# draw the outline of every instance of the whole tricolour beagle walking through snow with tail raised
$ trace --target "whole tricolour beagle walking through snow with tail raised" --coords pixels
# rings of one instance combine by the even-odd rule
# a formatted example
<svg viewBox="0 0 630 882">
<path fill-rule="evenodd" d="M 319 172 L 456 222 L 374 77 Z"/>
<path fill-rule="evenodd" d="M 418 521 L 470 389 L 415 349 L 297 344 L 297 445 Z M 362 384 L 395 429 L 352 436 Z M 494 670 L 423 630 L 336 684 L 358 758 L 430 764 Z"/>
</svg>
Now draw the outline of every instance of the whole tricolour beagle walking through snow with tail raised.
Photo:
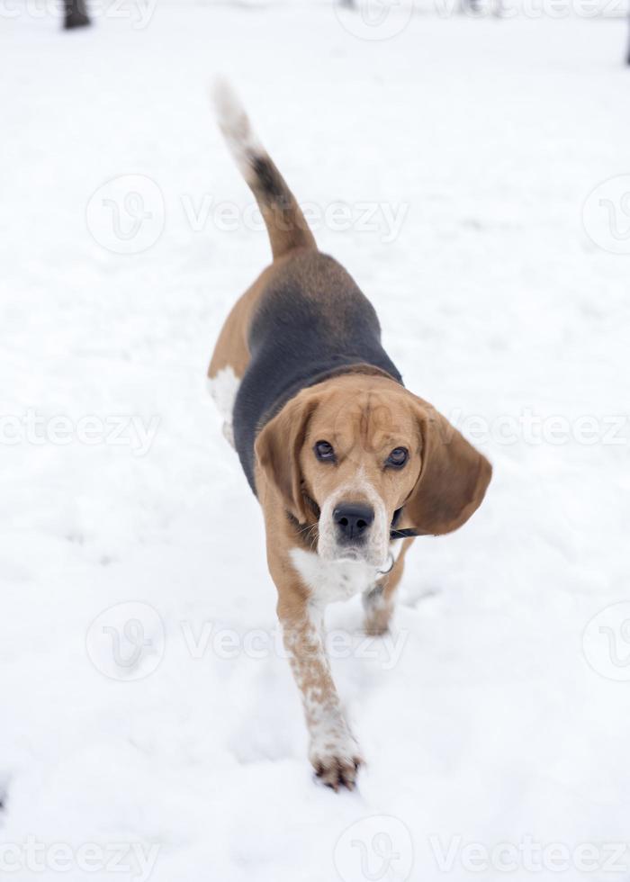
<svg viewBox="0 0 630 882">
<path fill-rule="evenodd" d="M 311 764 L 329 787 L 351 789 L 362 758 L 331 677 L 324 608 L 361 592 L 367 632 L 383 634 L 412 537 L 461 527 L 482 502 L 491 465 L 405 389 L 374 307 L 318 250 L 236 96 L 220 85 L 215 99 L 273 262 L 220 331 L 211 392 L 263 509 Z"/>
</svg>

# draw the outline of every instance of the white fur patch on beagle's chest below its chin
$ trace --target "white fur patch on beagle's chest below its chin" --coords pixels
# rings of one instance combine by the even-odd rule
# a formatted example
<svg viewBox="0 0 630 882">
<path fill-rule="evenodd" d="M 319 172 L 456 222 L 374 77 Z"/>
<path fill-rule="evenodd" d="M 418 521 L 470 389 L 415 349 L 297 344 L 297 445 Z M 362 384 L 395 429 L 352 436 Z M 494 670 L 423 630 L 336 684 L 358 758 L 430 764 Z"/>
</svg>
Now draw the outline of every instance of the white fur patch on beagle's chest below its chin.
<svg viewBox="0 0 630 882">
<path fill-rule="evenodd" d="M 319 554 L 302 548 L 292 548 L 289 554 L 312 599 L 324 606 L 373 588 L 378 578 L 376 568 L 367 563 L 323 561 Z"/>
</svg>

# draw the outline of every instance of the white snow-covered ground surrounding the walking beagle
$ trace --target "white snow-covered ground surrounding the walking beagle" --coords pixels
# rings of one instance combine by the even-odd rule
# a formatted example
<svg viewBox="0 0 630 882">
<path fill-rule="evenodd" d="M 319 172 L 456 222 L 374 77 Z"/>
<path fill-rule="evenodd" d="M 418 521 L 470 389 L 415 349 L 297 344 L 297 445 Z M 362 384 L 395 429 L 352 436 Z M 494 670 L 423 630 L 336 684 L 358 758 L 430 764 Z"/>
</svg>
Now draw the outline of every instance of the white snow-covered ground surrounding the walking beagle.
<svg viewBox="0 0 630 882">
<path fill-rule="evenodd" d="M 0 873 L 630 878 L 625 23 L 3 10 Z M 406 383 L 494 464 L 413 548 L 389 640 L 329 610 L 352 794 L 311 779 L 205 389 L 268 257 L 218 71 Z"/>
</svg>

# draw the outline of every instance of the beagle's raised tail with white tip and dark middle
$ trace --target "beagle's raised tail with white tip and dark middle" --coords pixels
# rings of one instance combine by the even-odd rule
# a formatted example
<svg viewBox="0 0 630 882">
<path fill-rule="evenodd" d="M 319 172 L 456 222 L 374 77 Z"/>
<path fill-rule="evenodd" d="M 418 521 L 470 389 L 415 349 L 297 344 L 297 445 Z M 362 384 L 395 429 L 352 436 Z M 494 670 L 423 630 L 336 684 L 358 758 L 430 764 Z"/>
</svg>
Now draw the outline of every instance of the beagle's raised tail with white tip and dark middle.
<svg viewBox="0 0 630 882">
<path fill-rule="evenodd" d="M 214 85 L 212 96 L 220 130 L 262 211 L 274 258 L 293 248 L 316 248 L 295 196 L 254 134 L 238 96 L 225 80 Z"/>
</svg>

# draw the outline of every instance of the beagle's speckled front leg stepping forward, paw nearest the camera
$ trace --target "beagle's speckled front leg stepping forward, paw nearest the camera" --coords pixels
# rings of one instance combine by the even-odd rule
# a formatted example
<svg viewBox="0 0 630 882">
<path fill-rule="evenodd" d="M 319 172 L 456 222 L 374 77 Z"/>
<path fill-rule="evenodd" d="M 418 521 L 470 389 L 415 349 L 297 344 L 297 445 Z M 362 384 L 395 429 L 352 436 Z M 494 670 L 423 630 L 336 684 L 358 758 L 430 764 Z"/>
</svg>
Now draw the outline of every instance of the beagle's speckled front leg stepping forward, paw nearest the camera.
<svg viewBox="0 0 630 882">
<path fill-rule="evenodd" d="M 362 759 L 330 673 L 323 611 L 312 606 L 307 592 L 295 584 L 280 592 L 278 617 L 293 677 L 302 693 L 313 769 L 329 787 L 352 790 Z"/>
</svg>

